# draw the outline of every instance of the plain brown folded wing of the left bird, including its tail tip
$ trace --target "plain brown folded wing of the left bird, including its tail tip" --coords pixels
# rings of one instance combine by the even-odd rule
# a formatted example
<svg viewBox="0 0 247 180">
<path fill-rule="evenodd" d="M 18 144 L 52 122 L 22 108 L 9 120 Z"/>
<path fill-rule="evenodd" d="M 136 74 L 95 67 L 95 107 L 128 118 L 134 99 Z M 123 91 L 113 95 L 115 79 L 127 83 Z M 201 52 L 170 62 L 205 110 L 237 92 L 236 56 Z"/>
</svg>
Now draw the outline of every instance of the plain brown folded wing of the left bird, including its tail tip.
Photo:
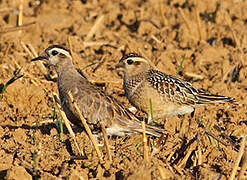
<svg viewBox="0 0 247 180">
<path fill-rule="evenodd" d="M 103 121 L 106 127 L 114 124 L 125 132 L 142 132 L 141 122 L 132 112 L 90 82 L 81 80 L 70 91 L 88 124 L 99 125 Z M 73 108 L 72 103 L 70 105 Z M 164 132 L 153 126 L 146 126 L 146 131 L 154 136 L 161 136 Z"/>
</svg>

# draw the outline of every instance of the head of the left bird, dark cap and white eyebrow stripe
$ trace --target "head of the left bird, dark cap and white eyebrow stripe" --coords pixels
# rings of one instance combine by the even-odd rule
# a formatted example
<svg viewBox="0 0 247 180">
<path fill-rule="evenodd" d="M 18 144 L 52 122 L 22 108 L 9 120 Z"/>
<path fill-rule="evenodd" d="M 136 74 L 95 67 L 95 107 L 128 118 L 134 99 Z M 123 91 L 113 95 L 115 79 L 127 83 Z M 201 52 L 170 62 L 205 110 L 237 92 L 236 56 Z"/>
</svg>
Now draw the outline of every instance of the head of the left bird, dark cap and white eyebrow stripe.
<svg viewBox="0 0 247 180">
<path fill-rule="evenodd" d="M 40 56 L 31 61 L 44 61 L 51 66 L 58 66 L 59 64 L 72 63 L 70 51 L 61 45 L 51 45 L 41 53 Z"/>
</svg>

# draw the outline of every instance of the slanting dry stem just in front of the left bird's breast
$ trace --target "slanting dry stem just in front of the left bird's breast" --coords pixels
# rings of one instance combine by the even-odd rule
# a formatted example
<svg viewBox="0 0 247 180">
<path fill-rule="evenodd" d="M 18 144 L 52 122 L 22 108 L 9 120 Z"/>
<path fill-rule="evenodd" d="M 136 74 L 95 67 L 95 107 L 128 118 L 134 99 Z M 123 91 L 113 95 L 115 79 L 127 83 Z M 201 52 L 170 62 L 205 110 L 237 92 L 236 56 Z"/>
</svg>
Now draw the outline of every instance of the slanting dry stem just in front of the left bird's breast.
<svg viewBox="0 0 247 180">
<path fill-rule="evenodd" d="M 66 128 L 69 131 L 69 134 L 71 135 L 72 139 L 74 140 L 75 146 L 77 148 L 77 150 L 79 151 L 81 156 L 84 156 L 83 151 L 80 149 L 80 146 L 78 145 L 76 138 L 75 138 L 75 133 L 73 132 L 71 126 L 70 126 L 70 122 L 67 119 L 67 116 L 65 115 L 64 111 L 61 109 L 60 104 L 56 101 L 56 99 L 59 99 L 58 95 L 56 93 L 53 93 L 53 97 L 54 97 L 54 101 L 56 102 L 56 106 L 59 109 L 60 115 L 62 116 L 63 120 L 64 120 L 64 124 L 66 126 Z"/>
</svg>

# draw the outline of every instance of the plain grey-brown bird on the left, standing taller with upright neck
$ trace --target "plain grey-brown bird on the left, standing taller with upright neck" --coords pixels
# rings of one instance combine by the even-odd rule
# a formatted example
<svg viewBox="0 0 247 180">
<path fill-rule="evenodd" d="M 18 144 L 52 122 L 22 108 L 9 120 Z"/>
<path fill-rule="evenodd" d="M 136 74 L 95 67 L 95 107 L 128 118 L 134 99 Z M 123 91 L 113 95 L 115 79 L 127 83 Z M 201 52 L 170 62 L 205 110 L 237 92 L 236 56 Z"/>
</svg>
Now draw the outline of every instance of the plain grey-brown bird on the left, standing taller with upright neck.
<svg viewBox="0 0 247 180">
<path fill-rule="evenodd" d="M 120 101 L 92 84 L 84 72 L 78 73 L 72 63 L 71 52 L 65 46 L 50 45 L 40 56 L 31 61 L 38 60 L 55 68 L 58 75 L 57 85 L 61 106 L 72 124 L 83 126 L 69 98 L 69 92 L 93 133 L 98 133 L 101 122 L 105 124 L 108 136 L 130 136 L 143 133 L 140 118 Z M 146 125 L 146 133 L 161 137 L 164 129 Z"/>
</svg>

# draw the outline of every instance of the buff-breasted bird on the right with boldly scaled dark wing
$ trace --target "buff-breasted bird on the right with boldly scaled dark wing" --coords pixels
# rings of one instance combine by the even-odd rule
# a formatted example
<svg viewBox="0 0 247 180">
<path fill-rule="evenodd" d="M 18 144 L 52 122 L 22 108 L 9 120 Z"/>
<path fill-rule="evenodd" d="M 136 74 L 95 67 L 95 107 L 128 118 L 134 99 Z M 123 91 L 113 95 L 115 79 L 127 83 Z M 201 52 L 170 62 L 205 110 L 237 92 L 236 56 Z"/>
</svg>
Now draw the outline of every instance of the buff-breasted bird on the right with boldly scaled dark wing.
<svg viewBox="0 0 247 180">
<path fill-rule="evenodd" d="M 195 108 L 213 103 L 235 103 L 227 96 L 207 93 L 191 83 L 153 68 L 137 53 L 122 56 L 115 66 L 123 72 L 123 86 L 127 99 L 138 110 L 153 119 L 194 113 Z"/>
</svg>

